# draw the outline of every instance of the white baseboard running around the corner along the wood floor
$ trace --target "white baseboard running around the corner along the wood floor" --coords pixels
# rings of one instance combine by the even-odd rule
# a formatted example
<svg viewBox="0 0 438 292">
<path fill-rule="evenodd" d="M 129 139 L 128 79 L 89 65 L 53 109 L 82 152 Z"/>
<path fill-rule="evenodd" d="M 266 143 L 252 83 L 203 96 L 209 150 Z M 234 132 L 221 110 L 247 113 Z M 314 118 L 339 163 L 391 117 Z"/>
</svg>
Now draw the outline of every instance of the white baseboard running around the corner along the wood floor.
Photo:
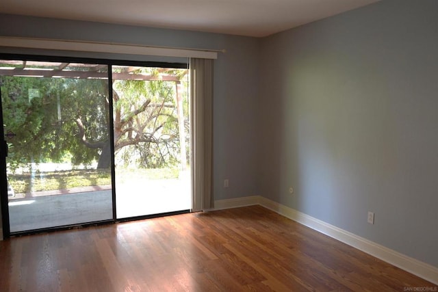
<svg viewBox="0 0 438 292">
<path fill-rule="evenodd" d="M 424 280 L 438 284 L 437 267 L 433 267 L 432 265 L 418 261 L 415 258 L 400 254 L 400 252 L 396 252 L 395 250 L 386 248 L 383 245 L 374 243 L 373 241 L 359 237 L 353 233 L 349 233 L 346 230 L 318 220 L 305 213 L 301 213 L 300 211 L 296 211 L 295 209 L 289 208 L 283 204 L 279 204 L 278 202 L 263 198 L 262 196 L 216 200 L 214 204 L 215 207 L 212 210 L 231 209 L 259 204 L 302 225 L 312 228 L 313 230 L 323 233 L 324 235 L 333 237 L 334 239 L 342 241 L 358 250 L 366 252 L 376 258 L 380 258 L 382 261 L 400 267 L 400 269 L 404 269 L 405 271 L 409 271 L 409 273 L 419 276 Z"/>
</svg>

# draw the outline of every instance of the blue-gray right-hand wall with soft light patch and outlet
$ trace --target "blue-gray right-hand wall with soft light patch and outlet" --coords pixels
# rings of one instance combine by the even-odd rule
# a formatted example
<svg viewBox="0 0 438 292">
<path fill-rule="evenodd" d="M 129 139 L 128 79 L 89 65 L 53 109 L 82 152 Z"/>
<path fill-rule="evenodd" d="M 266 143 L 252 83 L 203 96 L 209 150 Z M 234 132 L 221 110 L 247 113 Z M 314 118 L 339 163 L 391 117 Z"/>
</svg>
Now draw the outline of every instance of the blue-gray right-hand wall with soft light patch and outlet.
<svg viewBox="0 0 438 292">
<path fill-rule="evenodd" d="M 438 1 L 384 0 L 262 55 L 259 194 L 438 267 Z"/>
</svg>

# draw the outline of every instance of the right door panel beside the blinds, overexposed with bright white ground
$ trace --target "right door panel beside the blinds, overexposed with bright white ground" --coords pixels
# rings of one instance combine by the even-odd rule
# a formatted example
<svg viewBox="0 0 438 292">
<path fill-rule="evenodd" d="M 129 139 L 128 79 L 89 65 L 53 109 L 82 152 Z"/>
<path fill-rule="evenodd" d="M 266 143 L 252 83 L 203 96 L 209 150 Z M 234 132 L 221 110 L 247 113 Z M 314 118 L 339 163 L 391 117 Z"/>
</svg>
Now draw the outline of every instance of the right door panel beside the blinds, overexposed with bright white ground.
<svg viewBox="0 0 438 292">
<path fill-rule="evenodd" d="M 188 70 L 112 68 L 117 217 L 190 209 Z"/>
</svg>

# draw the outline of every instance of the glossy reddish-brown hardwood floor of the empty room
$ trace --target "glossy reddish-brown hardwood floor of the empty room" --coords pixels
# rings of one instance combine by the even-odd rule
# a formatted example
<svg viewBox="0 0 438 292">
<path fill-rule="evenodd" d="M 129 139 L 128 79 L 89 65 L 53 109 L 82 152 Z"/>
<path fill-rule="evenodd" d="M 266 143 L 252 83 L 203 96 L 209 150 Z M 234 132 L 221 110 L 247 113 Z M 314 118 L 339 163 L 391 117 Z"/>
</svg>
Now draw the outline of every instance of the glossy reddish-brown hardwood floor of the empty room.
<svg viewBox="0 0 438 292">
<path fill-rule="evenodd" d="M 407 287 L 437 286 L 259 206 L 0 241 L 0 291 Z"/>
</svg>

